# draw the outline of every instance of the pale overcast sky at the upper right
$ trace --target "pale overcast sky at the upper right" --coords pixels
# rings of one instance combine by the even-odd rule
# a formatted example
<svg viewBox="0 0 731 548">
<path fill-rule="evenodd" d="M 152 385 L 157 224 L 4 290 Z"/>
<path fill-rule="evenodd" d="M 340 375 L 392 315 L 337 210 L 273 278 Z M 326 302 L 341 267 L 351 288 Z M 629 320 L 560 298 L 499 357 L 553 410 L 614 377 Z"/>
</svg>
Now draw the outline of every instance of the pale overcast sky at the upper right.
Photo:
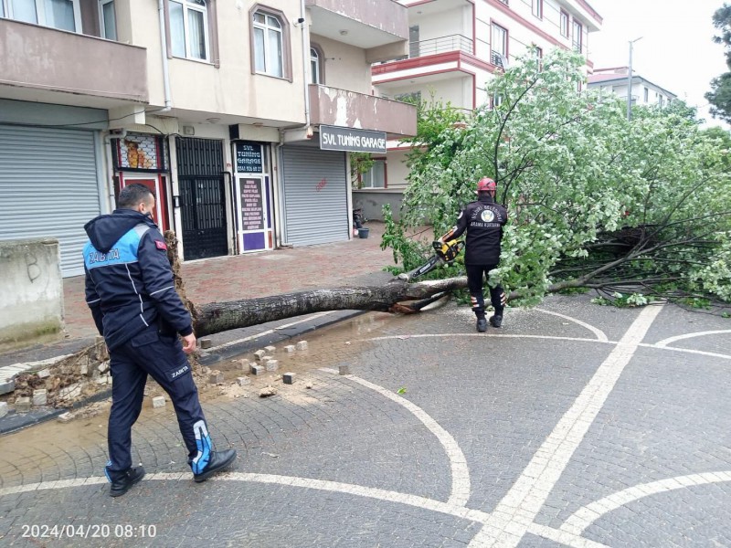
<svg viewBox="0 0 731 548">
<path fill-rule="evenodd" d="M 671 91 L 709 126 L 721 125 L 708 114 L 704 94 L 710 81 L 728 71 L 724 47 L 714 44 L 718 34 L 712 17 L 724 0 L 588 0 L 604 22 L 588 38 L 588 58 L 594 68 L 626 67 L 629 40 L 634 73 Z"/>
</svg>

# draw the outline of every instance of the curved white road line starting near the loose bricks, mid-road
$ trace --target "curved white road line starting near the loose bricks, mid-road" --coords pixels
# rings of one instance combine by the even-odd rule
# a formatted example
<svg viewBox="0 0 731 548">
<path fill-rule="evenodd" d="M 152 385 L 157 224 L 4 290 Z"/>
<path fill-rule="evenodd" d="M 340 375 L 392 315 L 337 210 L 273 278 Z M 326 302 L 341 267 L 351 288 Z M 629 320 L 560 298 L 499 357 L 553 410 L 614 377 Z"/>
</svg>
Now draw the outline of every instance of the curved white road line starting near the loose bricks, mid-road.
<svg viewBox="0 0 731 548">
<path fill-rule="evenodd" d="M 320 371 L 338 374 L 336 370 L 328 367 L 323 367 Z M 444 451 L 447 453 L 447 457 L 450 459 L 451 494 L 447 504 L 453 506 L 464 506 L 467 504 L 467 501 L 470 500 L 470 469 L 467 467 L 467 458 L 464 457 L 464 453 L 462 453 L 462 450 L 454 437 L 451 437 L 451 434 L 442 428 L 436 420 L 431 418 L 426 411 L 416 404 L 409 402 L 408 399 L 389 392 L 383 386 L 369 383 L 365 379 L 355 376 L 354 374 L 346 374 L 344 377 L 358 383 L 359 385 L 363 385 L 366 388 L 370 388 L 378 394 L 387 397 L 392 402 L 397 403 L 399 406 L 406 408 L 429 429 L 429 432 L 437 437 L 441 446 L 444 448 Z"/>
</svg>

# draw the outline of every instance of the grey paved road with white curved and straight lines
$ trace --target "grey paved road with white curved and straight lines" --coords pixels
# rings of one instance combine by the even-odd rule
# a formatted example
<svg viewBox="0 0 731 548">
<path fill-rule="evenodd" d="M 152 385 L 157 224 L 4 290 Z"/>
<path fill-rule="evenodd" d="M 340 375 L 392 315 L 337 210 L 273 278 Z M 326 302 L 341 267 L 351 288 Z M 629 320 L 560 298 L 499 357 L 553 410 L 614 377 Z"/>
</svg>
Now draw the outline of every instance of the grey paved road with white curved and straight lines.
<svg viewBox="0 0 731 548">
<path fill-rule="evenodd" d="M 367 314 L 278 349 L 294 385 L 202 389 L 217 446 L 239 454 L 207 483 L 169 403 L 145 405 L 148 476 L 120 499 L 103 409 L 0 437 L 0 544 L 731 546 L 730 334 L 718 316 L 585 296 L 485 334 L 451 304 Z"/>
</svg>

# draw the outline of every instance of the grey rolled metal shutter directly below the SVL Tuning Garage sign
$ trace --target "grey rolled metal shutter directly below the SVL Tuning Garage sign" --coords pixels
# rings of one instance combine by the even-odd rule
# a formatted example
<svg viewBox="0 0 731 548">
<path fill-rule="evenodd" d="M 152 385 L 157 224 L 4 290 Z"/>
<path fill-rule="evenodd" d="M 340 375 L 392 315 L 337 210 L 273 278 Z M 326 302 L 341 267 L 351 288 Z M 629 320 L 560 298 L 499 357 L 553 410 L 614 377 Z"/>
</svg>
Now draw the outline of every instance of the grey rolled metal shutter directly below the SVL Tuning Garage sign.
<svg viewBox="0 0 731 548">
<path fill-rule="evenodd" d="M 347 240 L 345 153 L 282 148 L 286 241 L 309 246 Z"/>
</svg>

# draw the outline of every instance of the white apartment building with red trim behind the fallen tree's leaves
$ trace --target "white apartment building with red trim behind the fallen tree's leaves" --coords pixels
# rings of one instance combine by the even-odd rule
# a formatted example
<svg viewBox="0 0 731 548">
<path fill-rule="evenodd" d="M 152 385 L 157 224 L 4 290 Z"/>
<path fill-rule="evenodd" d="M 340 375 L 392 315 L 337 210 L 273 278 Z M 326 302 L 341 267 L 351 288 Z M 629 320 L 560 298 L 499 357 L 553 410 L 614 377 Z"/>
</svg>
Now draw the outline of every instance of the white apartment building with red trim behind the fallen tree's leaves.
<svg viewBox="0 0 731 548">
<path fill-rule="evenodd" d="M 392 99 L 431 97 L 471 111 L 490 103 L 486 84 L 530 47 L 542 56 L 553 47 L 588 52 L 601 16 L 585 0 L 400 0 L 408 7 L 408 57 L 373 67 L 377 92 Z M 587 72 L 592 72 L 587 60 Z M 390 142 L 377 157 L 356 202 L 398 193 L 407 185 L 407 148 Z M 384 191 L 385 189 L 385 191 Z M 390 191 L 389 191 L 390 189 Z M 393 199 L 386 198 L 393 202 Z M 376 216 L 375 210 L 367 214 Z"/>
</svg>

